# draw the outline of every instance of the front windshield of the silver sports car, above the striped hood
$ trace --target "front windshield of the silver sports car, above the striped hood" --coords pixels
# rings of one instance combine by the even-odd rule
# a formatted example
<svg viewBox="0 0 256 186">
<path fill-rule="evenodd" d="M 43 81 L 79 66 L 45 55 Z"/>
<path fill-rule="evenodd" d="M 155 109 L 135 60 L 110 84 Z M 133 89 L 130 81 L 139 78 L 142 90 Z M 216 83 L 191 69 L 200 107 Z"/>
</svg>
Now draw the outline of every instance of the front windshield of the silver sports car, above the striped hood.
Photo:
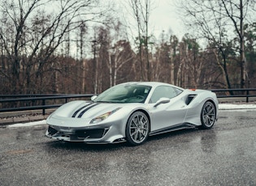
<svg viewBox="0 0 256 186">
<path fill-rule="evenodd" d="M 144 103 L 150 93 L 150 86 L 132 84 L 120 84 L 107 89 L 98 95 L 94 102 L 107 103 Z"/>
</svg>

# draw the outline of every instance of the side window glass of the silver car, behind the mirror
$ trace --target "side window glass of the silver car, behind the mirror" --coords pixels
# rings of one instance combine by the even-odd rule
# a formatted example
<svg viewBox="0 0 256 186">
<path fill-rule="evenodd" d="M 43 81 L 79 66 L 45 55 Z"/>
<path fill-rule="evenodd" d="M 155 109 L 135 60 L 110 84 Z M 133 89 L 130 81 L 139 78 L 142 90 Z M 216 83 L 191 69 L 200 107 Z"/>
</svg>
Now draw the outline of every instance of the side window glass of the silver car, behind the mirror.
<svg viewBox="0 0 256 186">
<path fill-rule="evenodd" d="M 174 98 L 180 95 L 182 90 L 175 87 L 159 86 L 154 89 L 154 92 L 150 98 L 150 103 L 156 103 L 160 98 Z"/>
</svg>

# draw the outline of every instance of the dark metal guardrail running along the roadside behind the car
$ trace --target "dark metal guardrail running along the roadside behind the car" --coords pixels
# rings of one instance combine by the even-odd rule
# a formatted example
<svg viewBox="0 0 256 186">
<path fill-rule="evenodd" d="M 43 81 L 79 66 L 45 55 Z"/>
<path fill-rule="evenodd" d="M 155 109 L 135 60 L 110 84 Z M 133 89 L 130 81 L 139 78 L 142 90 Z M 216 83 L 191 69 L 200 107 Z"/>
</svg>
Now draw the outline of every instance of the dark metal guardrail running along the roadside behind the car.
<svg viewBox="0 0 256 186">
<path fill-rule="evenodd" d="M 256 88 L 249 89 L 211 89 L 216 93 L 218 98 L 246 98 L 246 102 L 249 102 L 249 97 L 256 97 Z M 250 94 L 251 91 L 254 91 L 254 94 Z M 234 93 L 238 94 L 234 94 Z M 220 94 L 222 93 L 222 94 Z M 28 110 L 42 110 L 42 114 L 46 114 L 46 109 L 49 108 L 58 108 L 62 104 L 67 103 L 68 99 L 78 99 L 78 98 L 90 98 L 93 94 L 73 94 L 73 95 L 0 95 L 0 106 L 4 103 L 33 103 L 41 101 L 41 104 L 21 106 L 21 107 L 12 107 L 12 108 L 0 108 L 0 112 L 15 112 L 15 111 L 28 111 Z M 64 99 L 64 101 L 59 101 L 58 104 L 46 104 L 46 100 L 58 100 Z"/>
</svg>

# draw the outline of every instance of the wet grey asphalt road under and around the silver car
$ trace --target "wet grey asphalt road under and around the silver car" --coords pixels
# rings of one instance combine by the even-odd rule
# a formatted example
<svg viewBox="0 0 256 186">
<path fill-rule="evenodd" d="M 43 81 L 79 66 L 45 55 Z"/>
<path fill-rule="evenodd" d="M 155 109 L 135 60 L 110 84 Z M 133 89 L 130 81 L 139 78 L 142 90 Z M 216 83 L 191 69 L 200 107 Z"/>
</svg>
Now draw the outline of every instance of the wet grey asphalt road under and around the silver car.
<svg viewBox="0 0 256 186">
<path fill-rule="evenodd" d="M 46 126 L 0 129 L 0 185 L 256 185 L 256 110 L 142 146 L 61 143 Z"/>
</svg>

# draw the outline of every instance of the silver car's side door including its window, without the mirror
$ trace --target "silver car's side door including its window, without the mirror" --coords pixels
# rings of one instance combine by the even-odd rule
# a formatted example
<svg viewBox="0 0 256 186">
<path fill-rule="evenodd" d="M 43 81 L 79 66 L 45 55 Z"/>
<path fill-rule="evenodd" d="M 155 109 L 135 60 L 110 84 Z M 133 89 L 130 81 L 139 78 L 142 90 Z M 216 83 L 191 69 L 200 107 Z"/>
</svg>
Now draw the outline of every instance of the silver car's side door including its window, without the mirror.
<svg viewBox="0 0 256 186">
<path fill-rule="evenodd" d="M 158 86 L 150 98 L 151 132 L 167 129 L 174 125 L 183 124 L 187 107 L 180 95 L 182 91 L 176 87 Z M 154 105 L 161 98 L 170 99 L 169 103 Z"/>
</svg>

